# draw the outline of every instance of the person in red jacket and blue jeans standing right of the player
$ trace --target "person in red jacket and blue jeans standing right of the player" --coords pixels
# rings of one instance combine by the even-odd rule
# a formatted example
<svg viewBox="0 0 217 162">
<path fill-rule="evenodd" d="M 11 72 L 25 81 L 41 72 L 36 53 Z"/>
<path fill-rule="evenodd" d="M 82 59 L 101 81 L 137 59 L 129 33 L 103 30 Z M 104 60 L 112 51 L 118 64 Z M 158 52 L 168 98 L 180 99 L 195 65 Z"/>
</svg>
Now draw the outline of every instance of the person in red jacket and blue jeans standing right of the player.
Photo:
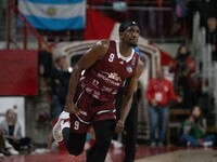
<svg viewBox="0 0 217 162">
<path fill-rule="evenodd" d="M 158 146 L 165 141 L 168 121 L 168 107 L 170 100 L 181 102 L 170 81 L 164 78 L 163 69 L 156 69 L 156 79 L 150 80 L 146 97 L 149 102 L 150 140 L 151 146 L 156 145 L 156 129 L 158 127 Z"/>
</svg>

